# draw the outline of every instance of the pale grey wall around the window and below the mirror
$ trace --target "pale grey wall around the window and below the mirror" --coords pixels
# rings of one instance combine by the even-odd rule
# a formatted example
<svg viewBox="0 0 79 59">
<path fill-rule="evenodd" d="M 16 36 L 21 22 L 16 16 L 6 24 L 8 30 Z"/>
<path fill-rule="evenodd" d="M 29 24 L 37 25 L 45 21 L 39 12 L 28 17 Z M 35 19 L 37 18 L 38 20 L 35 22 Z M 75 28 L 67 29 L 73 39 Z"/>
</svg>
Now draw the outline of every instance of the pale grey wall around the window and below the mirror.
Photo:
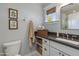
<svg viewBox="0 0 79 59">
<path fill-rule="evenodd" d="M 59 20 L 59 22 L 52 22 L 51 24 L 44 22 L 44 25 L 45 25 L 46 29 L 48 29 L 50 32 L 64 32 L 64 33 L 67 32 L 70 34 L 78 34 L 79 35 L 79 30 L 62 30 L 61 29 L 60 9 L 64 5 L 67 5 L 67 4 L 60 4 L 57 6 L 57 19 Z M 50 4 L 48 4 L 48 6 L 51 7 Z M 48 8 L 48 6 L 43 7 L 44 12 Z"/>
</svg>

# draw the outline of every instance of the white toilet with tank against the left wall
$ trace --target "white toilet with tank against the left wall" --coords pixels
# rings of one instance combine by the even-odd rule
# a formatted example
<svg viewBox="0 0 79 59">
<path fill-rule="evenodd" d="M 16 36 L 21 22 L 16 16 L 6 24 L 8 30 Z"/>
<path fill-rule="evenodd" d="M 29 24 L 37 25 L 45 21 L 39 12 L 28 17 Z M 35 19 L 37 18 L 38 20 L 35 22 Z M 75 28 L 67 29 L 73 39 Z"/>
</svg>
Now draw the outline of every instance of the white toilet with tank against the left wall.
<svg viewBox="0 0 79 59">
<path fill-rule="evenodd" d="M 21 47 L 21 40 L 7 42 L 3 44 L 3 51 L 6 56 L 20 56 L 19 51 Z"/>
</svg>

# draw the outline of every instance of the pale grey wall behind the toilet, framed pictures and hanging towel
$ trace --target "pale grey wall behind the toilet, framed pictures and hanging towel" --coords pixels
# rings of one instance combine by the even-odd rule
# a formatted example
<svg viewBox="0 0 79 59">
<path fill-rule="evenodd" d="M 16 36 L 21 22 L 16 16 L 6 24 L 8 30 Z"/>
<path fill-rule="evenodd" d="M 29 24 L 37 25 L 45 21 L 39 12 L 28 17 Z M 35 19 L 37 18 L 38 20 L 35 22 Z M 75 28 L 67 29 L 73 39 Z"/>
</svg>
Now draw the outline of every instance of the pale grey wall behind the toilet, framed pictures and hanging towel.
<svg viewBox="0 0 79 59">
<path fill-rule="evenodd" d="M 8 29 L 8 8 L 18 10 L 18 30 Z M 0 46 L 2 43 L 22 40 L 21 55 L 32 51 L 28 46 L 28 23 L 34 23 L 34 29 L 43 23 L 43 11 L 41 4 L 33 3 L 0 3 Z M 1 52 L 1 51 L 0 51 Z"/>
</svg>

